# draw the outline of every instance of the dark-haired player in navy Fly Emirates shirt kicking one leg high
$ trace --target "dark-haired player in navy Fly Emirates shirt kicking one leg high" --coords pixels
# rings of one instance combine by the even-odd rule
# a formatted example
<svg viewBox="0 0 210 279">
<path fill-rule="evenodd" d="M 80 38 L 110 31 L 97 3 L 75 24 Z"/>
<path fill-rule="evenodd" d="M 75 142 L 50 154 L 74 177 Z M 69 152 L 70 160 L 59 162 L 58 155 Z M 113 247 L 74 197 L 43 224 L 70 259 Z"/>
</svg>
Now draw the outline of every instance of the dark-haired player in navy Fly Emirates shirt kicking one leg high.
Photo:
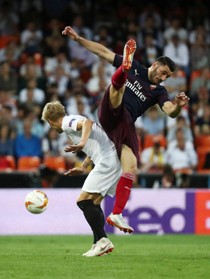
<svg viewBox="0 0 210 279">
<path fill-rule="evenodd" d="M 122 210 L 129 198 L 139 161 L 139 142 L 134 122 L 155 104 L 159 104 L 168 116 L 177 117 L 190 99 L 181 92 L 176 95 L 173 105 L 165 87 L 160 85 L 176 69 L 176 65 L 169 57 L 161 56 L 150 68 L 143 68 L 133 60 L 136 49 L 133 39 L 126 43 L 121 56 L 99 43 L 80 37 L 70 26 L 67 26 L 62 34 L 68 35 L 118 68 L 98 109 L 99 122 L 115 143 L 123 171 L 116 188 L 114 209 L 106 221 L 120 229 L 127 229 L 129 233 L 133 232 L 133 229 L 124 222 Z"/>
</svg>

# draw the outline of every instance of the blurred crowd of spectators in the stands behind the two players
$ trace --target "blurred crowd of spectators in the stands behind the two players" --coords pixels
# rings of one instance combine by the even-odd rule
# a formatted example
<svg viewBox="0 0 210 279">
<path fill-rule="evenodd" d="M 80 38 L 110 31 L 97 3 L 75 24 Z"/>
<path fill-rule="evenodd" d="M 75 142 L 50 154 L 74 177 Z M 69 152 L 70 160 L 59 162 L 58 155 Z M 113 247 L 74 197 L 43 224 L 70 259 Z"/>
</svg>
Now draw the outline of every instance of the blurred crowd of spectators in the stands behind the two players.
<svg viewBox="0 0 210 279">
<path fill-rule="evenodd" d="M 135 39 L 134 58 L 144 67 L 161 55 L 175 62 L 177 70 L 161 85 L 172 102 L 182 91 L 190 102 L 175 119 L 157 106 L 137 119 L 139 167 L 196 170 L 195 138 L 210 135 L 210 16 L 205 5 L 1 0 L 0 156 L 64 156 L 67 168 L 84 159 L 83 152 L 64 153 L 71 141 L 41 122 L 42 108 L 60 100 L 68 115 L 98 123 L 97 109 L 116 68 L 63 36 L 62 30 L 71 25 L 80 36 L 120 55 L 126 41 Z M 144 148 L 145 137 L 154 134 L 162 135 L 166 144 L 154 141 Z"/>
</svg>

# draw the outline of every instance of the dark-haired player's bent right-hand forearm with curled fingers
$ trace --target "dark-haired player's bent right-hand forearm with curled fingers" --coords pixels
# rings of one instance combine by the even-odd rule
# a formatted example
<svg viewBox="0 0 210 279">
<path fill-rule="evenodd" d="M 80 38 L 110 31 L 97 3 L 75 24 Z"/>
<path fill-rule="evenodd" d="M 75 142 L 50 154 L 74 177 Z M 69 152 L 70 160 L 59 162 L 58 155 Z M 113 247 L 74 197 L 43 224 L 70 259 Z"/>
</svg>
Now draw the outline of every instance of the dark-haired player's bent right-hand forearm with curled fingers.
<svg viewBox="0 0 210 279">
<path fill-rule="evenodd" d="M 179 115 L 182 110 L 182 107 L 189 102 L 188 98 L 184 92 L 181 92 L 180 95 L 177 94 L 175 97 L 176 104 L 172 104 L 170 101 L 167 101 L 163 104 L 162 110 L 171 118 L 175 118 Z"/>
</svg>

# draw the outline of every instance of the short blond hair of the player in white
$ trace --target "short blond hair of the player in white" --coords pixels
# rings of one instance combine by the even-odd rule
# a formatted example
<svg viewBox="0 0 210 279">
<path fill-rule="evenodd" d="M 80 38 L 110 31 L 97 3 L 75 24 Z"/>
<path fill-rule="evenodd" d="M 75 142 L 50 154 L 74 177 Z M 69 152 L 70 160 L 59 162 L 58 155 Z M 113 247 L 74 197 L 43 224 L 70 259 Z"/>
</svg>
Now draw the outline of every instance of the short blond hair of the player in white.
<svg viewBox="0 0 210 279">
<path fill-rule="evenodd" d="M 43 108 L 42 111 L 42 117 L 41 120 L 47 121 L 52 120 L 52 121 L 57 121 L 60 117 L 65 116 L 65 108 L 61 104 L 60 101 L 53 101 L 51 103 L 45 104 L 45 107 Z"/>
</svg>

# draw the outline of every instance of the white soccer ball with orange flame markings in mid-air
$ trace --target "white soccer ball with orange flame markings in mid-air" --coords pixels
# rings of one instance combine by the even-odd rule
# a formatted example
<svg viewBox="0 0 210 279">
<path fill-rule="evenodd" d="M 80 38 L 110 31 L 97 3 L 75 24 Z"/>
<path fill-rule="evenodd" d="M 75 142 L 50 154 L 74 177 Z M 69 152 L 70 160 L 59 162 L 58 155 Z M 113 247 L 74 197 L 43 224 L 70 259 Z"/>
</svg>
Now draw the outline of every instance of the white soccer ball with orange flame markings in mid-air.
<svg viewBox="0 0 210 279">
<path fill-rule="evenodd" d="M 48 198 L 45 193 L 41 191 L 31 191 L 25 198 L 25 206 L 31 213 L 42 213 L 48 207 Z"/>
</svg>

